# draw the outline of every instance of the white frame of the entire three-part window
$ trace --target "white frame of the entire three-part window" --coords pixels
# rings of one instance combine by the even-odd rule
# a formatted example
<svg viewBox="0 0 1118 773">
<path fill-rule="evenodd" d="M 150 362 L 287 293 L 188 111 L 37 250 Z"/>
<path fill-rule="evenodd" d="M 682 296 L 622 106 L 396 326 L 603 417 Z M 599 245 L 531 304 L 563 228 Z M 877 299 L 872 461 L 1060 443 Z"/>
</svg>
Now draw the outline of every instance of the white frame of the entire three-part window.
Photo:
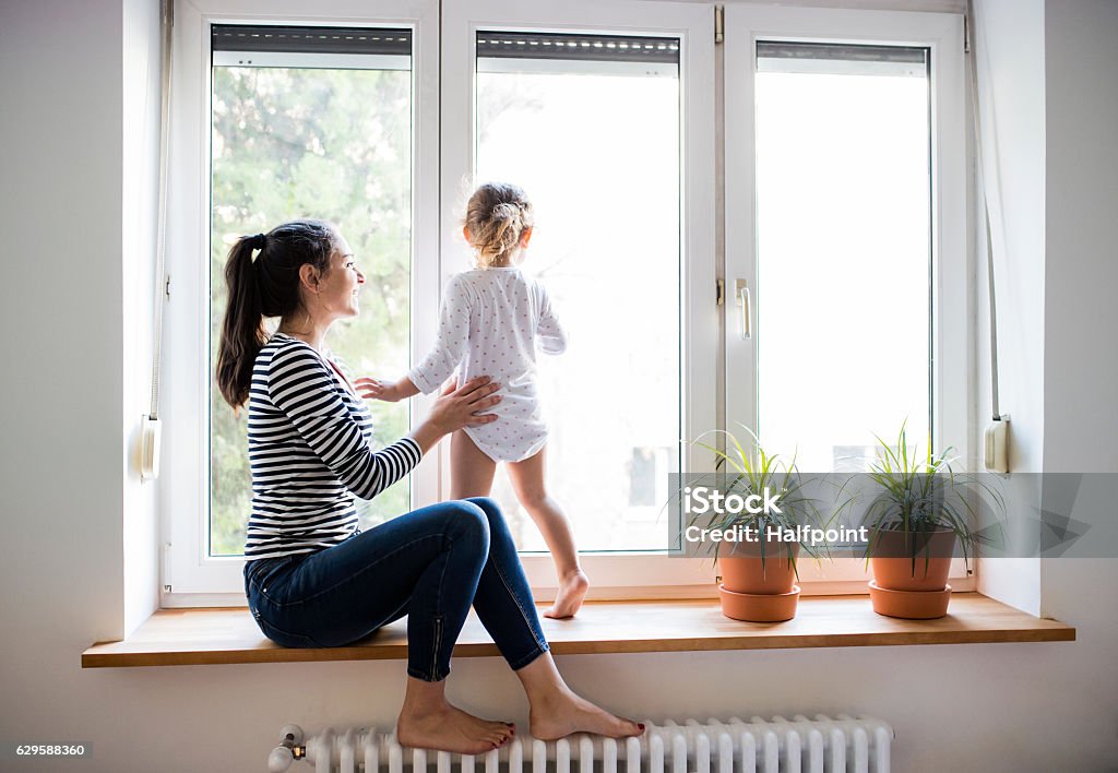
<svg viewBox="0 0 1118 773">
<path fill-rule="evenodd" d="M 624 35 L 671 35 L 681 39 L 681 143 L 684 341 L 683 440 L 735 421 L 756 426 L 740 402 L 756 404 L 754 371 L 743 366 L 737 314 L 727 299 L 716 305 L 716 279 L 756 276 L 754 256 L 754 41 L 766 38 L 862 41 L 927 46 L 932 50 L 934 115 L 934 351 L 938 447 L 954 445 L 972 460 L 968 406 L 973 380 L 970 314 L 939 314 L 939 308 L 970 309 L 967 254 L 965 82 L 963 17 L 954 13 L 854 11 L 817 8 L 730 6 L 726 9 L 726 257 L 716 258 L 717 178 L 714 6 L 664 0 L 381 0 L 371 15 L 367 0 L 177 0 L 168 267 L 173 295 L 165 319 L 164 397 L 168 416 L 160 509 L 164 538 L 163 606 L 243 605 L 243 558 L 208 558 L 207 348 L 209 256 L 209 135 L 211 23 L 297 23 L 408 27 L 413 30 L 413 275 L 411 343 L 416 361 L 435 338 L 440 287 L 453 272 L 459 232 L 455 205 L 473 169 L 475 31 L 550 29 Z M 737 142 L 731 140 L 737 139 Z M 733 216 L 729 216 L 733 213 Z M 742 216 L 738 216 L 741 213 Z M 727 293 L 729 295 L 730 293 Z M 719 338 L 724 336 L 724 348 Z M 748 355 L 749 358 L 752 355 Z M 722 405 L 716 364 L 724 367 Z M 751 366 L 750 366 L 751 367 Z M 735 395 L 741 395 L 738 400 Z M 434 396 L 416 398 L 425 415 Z M 723 413 L 724 412 L 724 413 Z M 414 507 L 449 492 L 447 444 L 413 473 Z M 709 471 L 710 454 L 684 443 L 684 470 Z M 666 516 L 665 516 L 666 532 Z M 534 591 L 553 586 L 550 556 L 525 555 Z M 584 566 L 599 598 L 713 596 L 709 560 L 662 554 L 588 554 Z M 961 571 L 961 562 L 957 562 Z M 973 578 L 953 567 L 953 587 Z M 841 559 L 800 563 L 805 594 L 864 593 L 864 564 Z"/>
</svg>

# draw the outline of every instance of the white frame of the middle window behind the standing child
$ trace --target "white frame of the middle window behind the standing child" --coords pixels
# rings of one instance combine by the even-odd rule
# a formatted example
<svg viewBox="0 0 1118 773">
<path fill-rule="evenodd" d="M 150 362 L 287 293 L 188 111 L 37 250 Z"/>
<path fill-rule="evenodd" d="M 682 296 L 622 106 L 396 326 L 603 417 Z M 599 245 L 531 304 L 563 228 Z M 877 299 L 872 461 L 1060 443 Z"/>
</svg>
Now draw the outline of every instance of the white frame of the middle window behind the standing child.
<svg viewBox="0 0 1118 773">
<path fill-rule="evenodd" d="M 714 305 L 714 7 L 629 1 L 524 3 L 515 0 L 455 0 L 443 9 L 443 248 L 454 255 L 455 199 L 474 170 L 477 30 L 543 30 L 680 38 L 680 139 L 683 341 L 681 399 L 683 440 L 717 426 L 718 308 Z M 443 265 L 448 280 L 454 263 Z M 443 450 L 444 455 L 447 450 Z M 710 460 L 684 443 L 684 470 Z M 447 480 L 444 478 L 444 484 Z M 448 489 L 445 489 L 448 490 Z M 667 516 L 664 516 L 667 536 Z M 582 554 L 594 598 L 695 597 L 713 595 L 709 560 L 669 558 L 657 553 Z M 555 592 L 549 555 L 522 555 L 524 573 L 541 598 Z"/>
</svg>

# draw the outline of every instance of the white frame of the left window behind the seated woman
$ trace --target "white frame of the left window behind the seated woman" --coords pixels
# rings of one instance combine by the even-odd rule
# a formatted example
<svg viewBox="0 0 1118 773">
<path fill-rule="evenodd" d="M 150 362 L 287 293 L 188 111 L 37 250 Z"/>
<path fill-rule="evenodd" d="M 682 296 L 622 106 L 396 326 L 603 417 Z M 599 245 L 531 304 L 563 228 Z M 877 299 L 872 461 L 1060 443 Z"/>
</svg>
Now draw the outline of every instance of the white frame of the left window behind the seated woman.
<svg viewBox="0 0 1118 773">
<path fill-rule="evenodd" d="M 411 307 L 438 304 L 438 1 L 177 0 L 168 219 L 163 395 L 167 409 L 160 512 L 162 606 L 244 604 L 245 560 L 208 554 L 209 512 L 209 228 L 210 26 L 291 23 L 411 29 L 413 175 Z M 434 338 L 435 320 L 413 313 L 416 341 Z M 414 507 L 437 501 L 438 469 L 411 473 Z M 426 498 L 423 498 L 426 494 Z M 247 513 L 246 513 L 247 515 Z"/>
</svg>

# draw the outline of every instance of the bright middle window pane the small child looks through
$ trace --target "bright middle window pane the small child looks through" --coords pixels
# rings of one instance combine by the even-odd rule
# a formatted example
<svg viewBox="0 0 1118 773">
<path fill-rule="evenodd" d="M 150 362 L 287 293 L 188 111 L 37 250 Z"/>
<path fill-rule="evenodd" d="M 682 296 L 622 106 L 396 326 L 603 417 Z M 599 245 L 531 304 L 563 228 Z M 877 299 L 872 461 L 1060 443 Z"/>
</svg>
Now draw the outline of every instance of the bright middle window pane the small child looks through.
<svg viewBox="0 0 1118 773">
<path fill-rule="evenodd" d="M 571 55 L 477 60 L 476 172 L 528 192 L 523 267 L 570 336 L 538 358 L 549 492 L 580 550 L 663 549 L 681 437 L 679 41 L 639 40 L 648 60 L 617 54 L 636 39 L 532 40 Z M 456 260 L 468 267 L 465 247 Z M 503 472 L 494 496 L 521 549 L 546 549 Z"/>
</svg>

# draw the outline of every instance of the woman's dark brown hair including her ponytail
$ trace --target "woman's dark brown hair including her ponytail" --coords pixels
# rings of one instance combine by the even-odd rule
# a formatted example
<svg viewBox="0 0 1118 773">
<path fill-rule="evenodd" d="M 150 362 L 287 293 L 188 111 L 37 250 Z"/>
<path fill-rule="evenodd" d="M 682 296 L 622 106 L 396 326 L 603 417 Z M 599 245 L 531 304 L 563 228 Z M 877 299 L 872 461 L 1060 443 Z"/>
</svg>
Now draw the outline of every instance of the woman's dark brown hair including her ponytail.
<svg viewBox="0 0 1118 773">
<path fill-rule="evenodd" d="M 248 399 L 253 365 L 266 341 L 265 317 L 290 317 L 302 303 L 299 268 L 310 263 L 325 274 L 334 229 L 322 220 L 292 220 L 267 234 L 241 236 L 229 249 L 225 282 L 229 301 L 217 350 L 217 385 L 234 408 Z M 259 251 L 256 258 L 253 253 Z"/>
</svg>

